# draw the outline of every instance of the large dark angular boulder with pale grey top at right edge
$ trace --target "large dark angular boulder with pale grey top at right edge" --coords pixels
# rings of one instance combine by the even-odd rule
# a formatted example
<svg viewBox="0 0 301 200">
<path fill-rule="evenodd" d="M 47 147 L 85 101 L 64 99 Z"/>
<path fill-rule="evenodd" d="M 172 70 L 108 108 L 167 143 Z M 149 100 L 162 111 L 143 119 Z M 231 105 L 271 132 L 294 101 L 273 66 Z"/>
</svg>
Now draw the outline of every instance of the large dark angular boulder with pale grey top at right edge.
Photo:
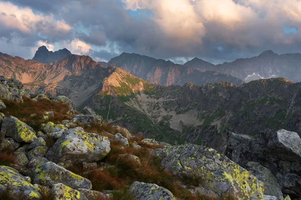
<svg viewBox="0 0 301 200">
<path fill-rule="evenodd" d="M 283 193 L 301 198 L 301 138 L 295 132 L 271 130 L 255 137 L 228 133 L 226 155 L 242 167 L 250 161 L 268 168 Z"/>
</svg>

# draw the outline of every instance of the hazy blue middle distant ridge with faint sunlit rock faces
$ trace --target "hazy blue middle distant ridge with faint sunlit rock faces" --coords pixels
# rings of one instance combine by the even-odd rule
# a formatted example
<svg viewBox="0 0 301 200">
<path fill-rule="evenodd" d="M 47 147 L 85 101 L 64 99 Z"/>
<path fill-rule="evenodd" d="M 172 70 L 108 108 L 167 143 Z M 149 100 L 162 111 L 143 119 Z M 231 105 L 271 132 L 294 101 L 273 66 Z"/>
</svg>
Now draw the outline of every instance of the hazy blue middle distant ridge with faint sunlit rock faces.
<svg viewBox="0 0 301 200">
<path fill-rule="evenodd" d="M 112 58 L 108 64 L 120 67 L 124 71 L 147 82 L 158 83 L 164 86 L 184 85 L 189 81 L 200 86 L 219 81 L 227 81 L 235 85 L 240 85 L 243 82 L 229 74 L 221 74 L 215 71 L 201 72 L 171 61 L 158 60 L 139 54 L 122 53 L 120 56 Z"/>
</svg>

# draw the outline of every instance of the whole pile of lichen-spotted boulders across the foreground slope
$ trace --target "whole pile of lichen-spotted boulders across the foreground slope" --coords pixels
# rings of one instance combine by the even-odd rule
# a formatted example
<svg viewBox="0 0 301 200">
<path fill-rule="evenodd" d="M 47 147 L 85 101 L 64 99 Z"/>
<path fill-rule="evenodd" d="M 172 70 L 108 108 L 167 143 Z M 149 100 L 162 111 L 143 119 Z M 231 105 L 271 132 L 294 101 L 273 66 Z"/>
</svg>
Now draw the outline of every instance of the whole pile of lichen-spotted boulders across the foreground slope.
<svg viewBox="0 0 301 200">
<path fill-rule="evenodd" d="M 116 145 L 125 151 L 132 148 L 135 152 L 149 153 L 148 159 L 158 160 L 165 172 L 177 177 L 178 187 L 195 195 L 195 199 L 200 195 L 205 199 L 284 199 L 283 193 L 299 195 L 301 143 L 296 133 L 267 131 L 257 138 L 230 133 L 227 155 L 232 161 L 212 148 L 199 145 L 172 146 L 154 139 L 139 140 L 138 144 L 133 140 L 135 137 L 120 126 L 113 126 L 114 131 L 102 132 L 102 135 L 87 132 L 85 128 L 95 124 L 103 126 L 102 117 L 91 108 L 85 107 L 83 113 L 78 114 L 67 97 L 35 94 L 23 89 L 22 83 L 3 77 L 0 81 L 0 90 L 4 92 L 0 95 L 0 109 L 3 111 L 7 109 L 5 101 L 21 103 L 24 95 L 31 101 L 48 99 L 70 109 L 65 113 L 70 120 L 64 119 L 56 124 L 48 121 L 55 113 L 51 110 L 45 112 L 42 119 L 45 123 L 41 122 L 39 130 L 22 119 L 0 113 L 0 152 L 10 151 L 14 155 L 11 165 L 2 164 L 0 160 L 0 197 L 25 200 L 46 197 L 118 199 L 114 190 L 93 190 L 95 185 L 89 176 L 85 176 L 109 167 L 114 172 L 116 166 L 106 163 L 106 158 L 116 154 L 116 149 L 115 152 L 112 150 Z M 11 94 L 12 91 L 15 93 Z M 44 119 L 44 116 L 49 118 Z M 126 159 L 137 168 L 142 166 L 139 156 L 120 151 L 116 157 Z M 80 166 L 84 173 L 72 172 L 70 168 L 73 166 Z M 102 177 L 99 177 L 101 181 Z M 139 177 L 128 184 L 126 194 L 131 199 L 141 200 L 180 199 L 159 183 L 142 182 Z"/>
</svg>

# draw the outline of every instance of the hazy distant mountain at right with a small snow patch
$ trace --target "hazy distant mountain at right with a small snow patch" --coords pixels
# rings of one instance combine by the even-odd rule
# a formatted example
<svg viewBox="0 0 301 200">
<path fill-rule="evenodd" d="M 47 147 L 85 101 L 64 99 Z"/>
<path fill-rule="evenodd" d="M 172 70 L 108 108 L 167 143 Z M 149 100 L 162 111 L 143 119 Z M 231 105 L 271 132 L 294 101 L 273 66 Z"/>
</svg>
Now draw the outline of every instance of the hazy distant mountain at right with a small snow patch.
<svg viewBox="0 0 301 200">
<path fill-rule="evenodd" d="M 301 54 L 278 55 L 272 51 L 265 51 L 253 58 L 237 59 L 234 62 L 219 65 L 208 64 L 195 58 L 185 63 L 184 66 L 203 72 L 213 70 L 222 74 L 231 74 L 246 82 L 274 77 L 284 77 L 293 82 L 301 81 Z"/>
</svg>

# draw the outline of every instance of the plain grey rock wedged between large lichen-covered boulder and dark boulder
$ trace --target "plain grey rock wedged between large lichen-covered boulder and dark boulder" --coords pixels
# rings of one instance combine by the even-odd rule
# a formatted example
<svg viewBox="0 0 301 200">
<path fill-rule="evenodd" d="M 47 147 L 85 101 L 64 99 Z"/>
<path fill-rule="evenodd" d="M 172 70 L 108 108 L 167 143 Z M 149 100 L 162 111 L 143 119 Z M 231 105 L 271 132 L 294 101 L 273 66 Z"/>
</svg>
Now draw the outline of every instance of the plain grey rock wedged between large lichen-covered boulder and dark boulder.
<svg viewBox="0 0 301 200">
<path fill-rule="evenodd" d="M 266 167 L 262 166 L 258 162 L 248 162 L 246 169 L 256 176 L 258 180 L 261 180 L 264 184 L 264 194 L 276 196 L 278 200 L 283 199 L 281 188 L 275 176 Z"/>
</svg>

